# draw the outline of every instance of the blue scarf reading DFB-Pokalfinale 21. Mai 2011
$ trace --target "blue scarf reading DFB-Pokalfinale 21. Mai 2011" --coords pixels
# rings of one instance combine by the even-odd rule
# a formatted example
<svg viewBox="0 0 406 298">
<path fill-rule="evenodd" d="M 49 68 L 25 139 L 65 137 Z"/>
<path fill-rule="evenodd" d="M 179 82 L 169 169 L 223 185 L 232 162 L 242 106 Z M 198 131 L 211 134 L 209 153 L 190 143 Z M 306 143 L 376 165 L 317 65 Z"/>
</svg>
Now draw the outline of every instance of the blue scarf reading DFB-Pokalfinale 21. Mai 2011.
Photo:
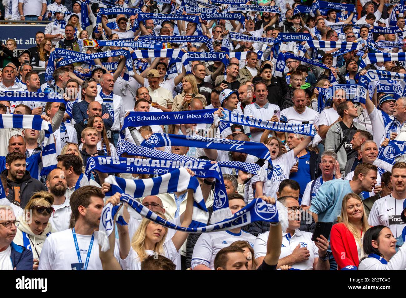
<svg viewBox="0 0 406 298">
<path fill-rule="evenodd" d="M 90 180 L 91 171 L 97 170 L 102 173 L 131 173 L 131 174 L 150 174 L 160 176 L 172 172 L 174 169 L 191 169 L 198 178 L 215 178 L 214 185 L 214 203 L 213 223 L 222 221 L 231 217 L 231 211 L 228 208 L 227 192 L 222 178 L 220 167 L 217 163 L 210 161 L 171 161 L 155 159 L 134 159 L 123 157 L 90 157 L 87 160 L 86 175 Z M 155 176 L 155 177 L 156 177 Z"/>
</svg>

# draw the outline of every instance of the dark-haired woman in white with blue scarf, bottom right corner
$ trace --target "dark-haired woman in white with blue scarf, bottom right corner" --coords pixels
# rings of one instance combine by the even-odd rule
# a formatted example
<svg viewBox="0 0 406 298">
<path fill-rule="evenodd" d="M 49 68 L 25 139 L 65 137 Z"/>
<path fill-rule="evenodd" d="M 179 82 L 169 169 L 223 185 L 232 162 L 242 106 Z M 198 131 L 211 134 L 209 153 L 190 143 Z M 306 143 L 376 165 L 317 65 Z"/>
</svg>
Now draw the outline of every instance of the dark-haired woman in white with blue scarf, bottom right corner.
<svg viewBox="0 0 406 298">
<path fill-rule="evenodd" d="M 405 242 L 404 242 L 405 243 Z M 396 252 L 396 238 L 389 227 L 371 227 L 364 237 L 364 251 L 367 257 L 361 259 L 358 270 L 405 270 L 406 245 Z"/>
</svg>

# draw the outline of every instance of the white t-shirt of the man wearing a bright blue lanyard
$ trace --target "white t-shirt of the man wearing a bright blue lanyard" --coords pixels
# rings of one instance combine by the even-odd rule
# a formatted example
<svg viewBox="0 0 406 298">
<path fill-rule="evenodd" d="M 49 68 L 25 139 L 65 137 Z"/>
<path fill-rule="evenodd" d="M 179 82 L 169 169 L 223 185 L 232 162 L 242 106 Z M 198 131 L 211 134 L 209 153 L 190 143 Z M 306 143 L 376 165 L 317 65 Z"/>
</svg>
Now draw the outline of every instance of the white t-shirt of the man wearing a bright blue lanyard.
<svg viewBox="0 0 406 298">
<path fill-rule="evenodd" d="M 103 270 L 102 262 L 99 258 L 99 243 L 97 242 L 98 232 L 95 231 L 95 239 L 89 258 L 87 270 Z M 76 234 L 82 262 L 86 262 L 87 251 L 89 249 L 92 235 Z M 114 245 L 114 257 L 119 262 L 119 248 Z M 39 257 L 38 270 L 72 270 L 71 264 L 79 263 L 76 253 L 75 242 L 73 242 L 72 229 L 62 232 L 52 233 L 45 239 Z"/>
</svg>

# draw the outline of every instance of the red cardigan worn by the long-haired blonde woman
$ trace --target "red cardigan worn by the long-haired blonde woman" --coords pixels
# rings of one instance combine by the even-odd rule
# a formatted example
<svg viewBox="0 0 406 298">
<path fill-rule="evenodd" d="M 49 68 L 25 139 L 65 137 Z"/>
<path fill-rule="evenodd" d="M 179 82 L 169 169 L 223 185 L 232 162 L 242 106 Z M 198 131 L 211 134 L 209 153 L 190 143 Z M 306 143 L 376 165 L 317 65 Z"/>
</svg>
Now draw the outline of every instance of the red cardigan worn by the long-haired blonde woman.
<svg viewBox="0 0 406 298">
<path fill-rule="evenodd" d="M 333 225 L 330 234 L 330 244 L 338 270 L 348 265 L 358 267 L 359 259 L 355 238 L 346 225 L 343 223 Z"/>
</svg>

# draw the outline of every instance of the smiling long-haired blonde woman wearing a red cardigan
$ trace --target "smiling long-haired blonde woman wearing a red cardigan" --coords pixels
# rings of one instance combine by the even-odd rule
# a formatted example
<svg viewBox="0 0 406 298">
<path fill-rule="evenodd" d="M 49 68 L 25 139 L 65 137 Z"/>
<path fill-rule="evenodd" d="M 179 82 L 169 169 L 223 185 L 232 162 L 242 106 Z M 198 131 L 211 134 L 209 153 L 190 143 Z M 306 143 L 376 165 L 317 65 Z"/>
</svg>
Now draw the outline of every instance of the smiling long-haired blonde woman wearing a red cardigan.
<svg viewBox="0 0 406 298">
<path fill-rule="evenodd" d="M 349 265 L 358 267 L 365 256 L 363 237 L 368 229 L 361 198 L 349 193 L 343 198 L 339 223 L 333 225 L 330 234 L 331 251 L 339 270 Z"/>
</svg>

